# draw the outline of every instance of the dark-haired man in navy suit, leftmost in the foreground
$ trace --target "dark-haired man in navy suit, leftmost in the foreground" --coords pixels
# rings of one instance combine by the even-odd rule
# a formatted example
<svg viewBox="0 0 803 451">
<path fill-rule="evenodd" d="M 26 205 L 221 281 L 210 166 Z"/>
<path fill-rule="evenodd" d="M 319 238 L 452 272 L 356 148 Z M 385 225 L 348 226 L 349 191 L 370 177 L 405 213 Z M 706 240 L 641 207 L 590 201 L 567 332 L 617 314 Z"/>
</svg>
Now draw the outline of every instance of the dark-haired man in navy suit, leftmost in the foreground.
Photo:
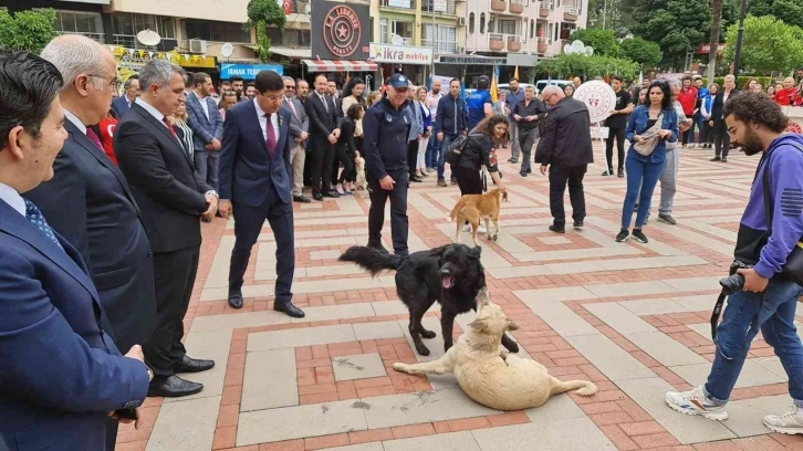
<svg viewBox="0 0 803 451">
<path fill-rule="evenodd" d="M 122 356 L 103 332 L 81 255 L 21 196 L 53 177 L 66 138 L 59 70 L 2 51 L 0 86 L 11 86 L 0 96 L 0 443 L 102 450 L 106 418 L 137 415 L 149 369 L 139 346 Z"/>
</svg>

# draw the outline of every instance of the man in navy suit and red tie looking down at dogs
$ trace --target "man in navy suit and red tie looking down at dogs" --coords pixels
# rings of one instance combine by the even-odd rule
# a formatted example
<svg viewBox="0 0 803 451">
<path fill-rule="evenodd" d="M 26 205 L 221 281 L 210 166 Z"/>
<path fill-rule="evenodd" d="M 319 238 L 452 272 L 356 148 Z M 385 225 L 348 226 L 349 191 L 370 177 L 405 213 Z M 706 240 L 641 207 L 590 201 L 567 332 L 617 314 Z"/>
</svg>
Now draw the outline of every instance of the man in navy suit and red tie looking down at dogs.
<svg viewBox="0 0 803 451">
<path fill-rule="evenodd" d="M 277 283 L 273 310 L 301 318 L 293 305 L 295 249 L 290 183 L 290 112 L 281 108 L 282 77 L 261 71 L 257 96 L 229 109 L 220 154 L 220 214 L 234 213 L 234 249 L 229 268 L 229 305 L 242 307 L 242 277 L 264 220 L 277 242 Z"/>
</svg>

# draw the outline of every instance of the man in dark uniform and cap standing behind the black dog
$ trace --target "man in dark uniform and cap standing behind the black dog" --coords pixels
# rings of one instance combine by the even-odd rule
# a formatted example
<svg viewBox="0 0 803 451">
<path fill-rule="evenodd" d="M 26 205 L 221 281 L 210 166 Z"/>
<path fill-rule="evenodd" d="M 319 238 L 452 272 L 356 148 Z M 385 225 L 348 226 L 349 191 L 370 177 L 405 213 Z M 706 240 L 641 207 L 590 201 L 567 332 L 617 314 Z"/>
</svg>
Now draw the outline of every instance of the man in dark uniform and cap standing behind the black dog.
<svg viewBox="0 0 803 451">
<path fill-rule="evenodd" d="M 368 247 L 385 251 L 382 226 L 385 202 L 390 198 L 390 235 L 397 255 L 407 255 L 407 137 L 413 120 L 407 102 L 409 82 L 394 74 L 386 83 L 386 94 L 363 117 L 365 171 L 371 195 Z M 385 251 L 387 252 L 387 251 Z"/>
</svg>

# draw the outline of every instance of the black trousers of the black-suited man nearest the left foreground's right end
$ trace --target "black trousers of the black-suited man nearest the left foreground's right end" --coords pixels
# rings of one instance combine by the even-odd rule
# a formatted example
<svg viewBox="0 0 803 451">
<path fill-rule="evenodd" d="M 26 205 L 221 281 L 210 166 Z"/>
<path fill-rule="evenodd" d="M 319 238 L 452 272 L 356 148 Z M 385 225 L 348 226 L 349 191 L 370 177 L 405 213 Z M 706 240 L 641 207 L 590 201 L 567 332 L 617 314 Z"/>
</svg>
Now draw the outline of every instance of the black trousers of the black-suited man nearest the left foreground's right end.
<svg viewBox="0 0 803 451">
<path fill-rule="evenodd" d="M 154 378 L 173 376 L 173 367 L 187 354 L 181 344 L 184 315 L 192 294 L 199 256 L 200 245 L 154 252 L 156 331 L 143 345 L 145 363 L 154 370 Z"/>
</svg>

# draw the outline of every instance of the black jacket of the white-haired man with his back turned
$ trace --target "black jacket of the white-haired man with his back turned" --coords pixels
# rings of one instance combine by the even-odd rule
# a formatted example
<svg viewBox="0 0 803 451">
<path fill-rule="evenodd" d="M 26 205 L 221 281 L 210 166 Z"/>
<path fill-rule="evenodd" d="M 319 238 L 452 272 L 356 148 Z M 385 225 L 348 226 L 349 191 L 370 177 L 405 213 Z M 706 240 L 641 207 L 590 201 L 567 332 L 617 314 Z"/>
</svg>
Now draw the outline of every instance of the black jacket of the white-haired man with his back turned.
<svg viewBox="0 0 803 451">
<path fill-rule="evenodd" d="M 584 103 L 564 97 L 550 109 L 535 162 L 567 167 L 594 162 L 591 117 Z"/>
</svg>

